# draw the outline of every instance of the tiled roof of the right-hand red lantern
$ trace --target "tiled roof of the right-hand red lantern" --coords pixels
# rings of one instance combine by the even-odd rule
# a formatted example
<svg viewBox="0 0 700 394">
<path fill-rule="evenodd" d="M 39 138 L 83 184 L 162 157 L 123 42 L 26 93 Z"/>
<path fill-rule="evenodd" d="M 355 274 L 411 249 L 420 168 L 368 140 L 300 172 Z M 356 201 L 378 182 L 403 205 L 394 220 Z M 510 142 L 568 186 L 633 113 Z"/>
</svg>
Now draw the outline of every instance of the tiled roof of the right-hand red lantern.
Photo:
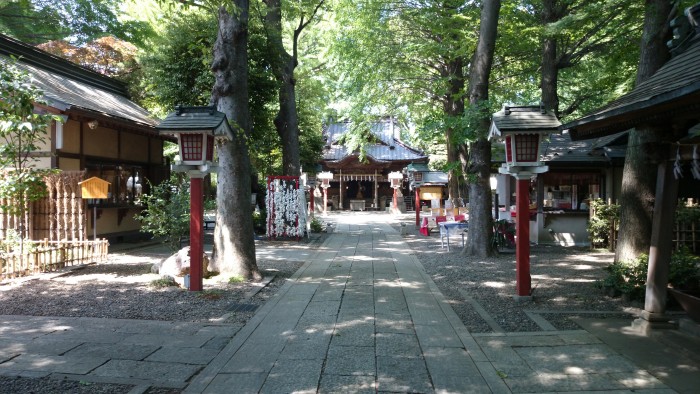
<svg viewBox="0 0 700 394">
<path fill-rule="evenodd" d="M 502 133 L 542 133 L 556 132 L 561 125 L 553 111 L 540 105 L 520 107 L 503 106 L 493 114 L 489 129 L 489 139 L 500 137 Z"/>
</svg>

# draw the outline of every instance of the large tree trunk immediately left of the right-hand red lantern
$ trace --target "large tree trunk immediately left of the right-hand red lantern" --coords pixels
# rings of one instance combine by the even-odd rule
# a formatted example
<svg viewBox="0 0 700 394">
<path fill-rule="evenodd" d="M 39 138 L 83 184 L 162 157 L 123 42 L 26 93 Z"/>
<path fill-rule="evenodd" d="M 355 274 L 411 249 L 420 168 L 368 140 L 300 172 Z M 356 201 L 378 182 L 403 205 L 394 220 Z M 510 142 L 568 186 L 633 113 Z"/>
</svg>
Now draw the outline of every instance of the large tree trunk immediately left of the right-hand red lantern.
<svg viewBox="0 0 700 394">
<path fill-rule="evenodd" d="M 473 107 L 486 102 L 489 96 L 489 76 L 496 48 L 496 31 L 498 14 L 501 10 L 500 0 L 485 0 L 481 9 L 479 41 L 469 67 L 469 104 Z M 491 114 L 482 113 L 479 122 L 477 141 L 469 150 L 469 164 L 465 171 L 469 186 L 469 244 L 464 253 L 489 256 L 493 253 L 491 236 L 493 218 L 491 217 L 491 142 L 486 138 Z M 464 149 L 466 151 L 466 149 Z"/>
</svg>

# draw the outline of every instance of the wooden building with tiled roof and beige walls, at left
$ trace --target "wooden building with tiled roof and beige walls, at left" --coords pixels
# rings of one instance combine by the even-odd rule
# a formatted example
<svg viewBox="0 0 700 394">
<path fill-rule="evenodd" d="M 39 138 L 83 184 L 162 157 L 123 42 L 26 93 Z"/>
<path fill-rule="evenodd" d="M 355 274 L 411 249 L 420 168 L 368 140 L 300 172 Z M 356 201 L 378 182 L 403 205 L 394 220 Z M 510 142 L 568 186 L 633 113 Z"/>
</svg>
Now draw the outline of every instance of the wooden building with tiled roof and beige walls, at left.
<svg viewBox="0 0 700 394">
<path fill-rule="evenodd" d="M 158 135 L 157 121 L 129 99 L 124 83 L 0 35 L 0 64 L 9 63 L 10 56 L 18 58 L 16 65 L 44 92 L 46 105 L 37 106 L 37 111 L 63 119 L 47 130 L 46 144 L 35 152 L 37 165 L 82 174 L 71 181 L 75 185 L 67 185 L 67 189 L 50 198 L 80 199 L 77 181 L 93 176 L 110 184 L 108 198 L 86 200 L 89 206 L 71 208 L 81 215 L 74 220 L 85 223 L 79 234 L 57 235 L 37 228 L 33 232 L 35 238 L 85 237 L 92 234 L 95 225 L 100 238 L 119 240 L 138 234 L 140 223 L 134 220 L 141 209 L 138 197 L 148 191 L 149 181 L 157 184 L 169 176 L 163 144 L 171 138 Z M 84 209 L 93 206 L 97 207 L 96 223 L 92 210 Z M 39 215 L 55 213 L 49 210 Z M 37 220 L 57 220 L 43 219 Z"/>
</svg>

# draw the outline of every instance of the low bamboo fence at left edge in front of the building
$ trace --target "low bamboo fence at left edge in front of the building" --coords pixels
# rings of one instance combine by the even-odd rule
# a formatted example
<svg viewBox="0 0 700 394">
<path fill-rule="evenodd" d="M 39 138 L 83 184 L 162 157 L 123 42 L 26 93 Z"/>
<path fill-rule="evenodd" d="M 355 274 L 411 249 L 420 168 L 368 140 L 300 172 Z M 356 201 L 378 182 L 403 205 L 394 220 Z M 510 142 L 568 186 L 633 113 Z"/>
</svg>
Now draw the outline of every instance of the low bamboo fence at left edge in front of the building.
<svg viewBox="0 0 700 394">
<path fill-rule="evenodd" d="M 16 278 L 67 266 L 101 263 L 107 260 L 109 242 L 25 241 L 24 252 L 0 252 L 0 279 Z"/>
</svg>

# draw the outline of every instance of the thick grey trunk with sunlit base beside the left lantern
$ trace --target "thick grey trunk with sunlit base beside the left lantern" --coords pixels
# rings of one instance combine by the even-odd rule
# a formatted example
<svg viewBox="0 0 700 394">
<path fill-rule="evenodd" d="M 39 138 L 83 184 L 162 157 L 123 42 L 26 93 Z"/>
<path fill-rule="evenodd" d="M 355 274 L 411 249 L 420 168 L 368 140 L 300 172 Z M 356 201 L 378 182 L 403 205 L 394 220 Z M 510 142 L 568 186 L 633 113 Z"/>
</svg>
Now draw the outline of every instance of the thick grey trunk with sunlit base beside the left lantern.
<svg viewBox="0 0 700 394">
<path fill-rule="evenodd" d="M 233 140 L 218 146 L 215 255 L 210 270 L 222 275 L 260 279 L 255 261 L 253 212 L 250 207 L 251 165 L 248 108 L 248 0 L 234 0 L 236 11 L 219 8 L 214 44 L 212 103 L 228 118 Z"/>
</svg>

